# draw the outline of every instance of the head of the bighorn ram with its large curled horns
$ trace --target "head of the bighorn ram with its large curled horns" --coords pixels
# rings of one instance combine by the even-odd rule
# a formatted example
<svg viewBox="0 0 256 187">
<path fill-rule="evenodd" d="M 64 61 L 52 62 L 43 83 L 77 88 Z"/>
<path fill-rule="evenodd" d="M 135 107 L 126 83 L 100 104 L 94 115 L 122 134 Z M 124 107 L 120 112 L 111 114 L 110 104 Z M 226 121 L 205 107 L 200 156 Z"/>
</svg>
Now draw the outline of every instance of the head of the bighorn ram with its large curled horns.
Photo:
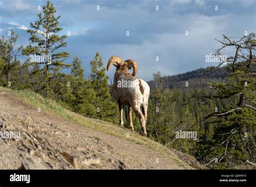
<svg viewBox="0 0 256 187">
<path fill-rule="evenodd" d="M 134 77 L 137 73 L 138 66 L 137 62 L 134 60 L 122 61 L 119 56 L 111 56 L 109 63 L 107 63 L 107 71 L 110 69 L 110 66 L 113 64 L 116 67 L 116 71 L 127 73 L 129 69 L 133 69 L 132 76 Z"/>
</svg>

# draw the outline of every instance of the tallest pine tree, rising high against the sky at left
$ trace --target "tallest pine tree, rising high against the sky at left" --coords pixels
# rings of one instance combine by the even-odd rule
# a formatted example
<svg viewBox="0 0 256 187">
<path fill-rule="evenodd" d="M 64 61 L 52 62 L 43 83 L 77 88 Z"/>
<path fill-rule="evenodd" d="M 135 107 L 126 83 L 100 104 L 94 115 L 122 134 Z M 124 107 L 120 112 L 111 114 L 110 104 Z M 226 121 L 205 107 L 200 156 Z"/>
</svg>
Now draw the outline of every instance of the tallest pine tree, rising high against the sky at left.
<svg viewBox="0 0 256 187">
<path fill-rule="evenodd" d="M 59 25 L 59 18 L 55 17 L 55 7 L 48 0 L 43 6 L 43 14 L 38 13 L 38 20 L 30 23 L 30 29 L 27 31 L 31 34 L 30 44 L 23 50 L 24 55 L 30 55 L 27 63 L 30 66 L 39 65 L 33 71 L 33 75 L 40 79 L 38 90 L 44 96 L 51 96 L 53 91 L 60 91 L 65 88 L 61 82 L 63 68 L 68 68 L 65 59 L 69 57 L 69 53 L 60 52 L 59 49 L 66 47 L 67 35 L 59 36 L 62 30 Z M 53 90 L 55 88 L 55 90 Z"/>
</svg>

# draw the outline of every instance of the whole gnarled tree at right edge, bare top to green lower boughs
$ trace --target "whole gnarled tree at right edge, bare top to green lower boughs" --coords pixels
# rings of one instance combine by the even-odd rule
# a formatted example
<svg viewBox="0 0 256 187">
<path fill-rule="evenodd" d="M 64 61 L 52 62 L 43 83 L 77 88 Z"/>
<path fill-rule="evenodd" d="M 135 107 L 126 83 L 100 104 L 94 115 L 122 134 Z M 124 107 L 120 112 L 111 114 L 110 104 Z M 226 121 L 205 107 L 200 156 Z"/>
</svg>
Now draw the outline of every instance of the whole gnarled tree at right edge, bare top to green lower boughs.
<svg viewBox="0 0 256 187">
<path fill-rule="evenodd" d="M 231 103 L 225 106 L 223 109 L 212 111 L 203 118 L 199 119 L 194 125 L 199 124 L 206 119 L 205 124 L 226 124 L 230 119 L 229 117 L 232 114 L 241 114 L 244 109 L 251 111 L 250 115 L 251 120 L 248 124 L 256 124 L 255 111 L 256 111 L 256 40 L 255 33 L 248 35 L 243 35 L 242 37 L 227 37 L 223 34 L 223 39 L 218 40 L 220 47 L 214 53 L 214 57 L 218 57 L 220 63 L 216 67 L 210 67 L 205 71 L 199 73 L 198 75 L 209 72 L 215 68 L 225 65 L 225 68 L 228 70 L 228 77 L 223 83 L 210 83 L 209 88 L 215 90 L 214 95 L 191 95 L 188 98 L 185 104 L 191 102 L 192 99 L 202 100 L 204 103 L 214 102 L 217 103 L 218 100 L 229 99 Z M 225 54 L 226 49 L 234 49 L 233 54 L 226 56 L 223 60 L 221 56 Z M 243 115 L 243 114 L 241 114 Z M 248 129 L 243 124 L 243 121 L 234 121 L 232 130 L 225 128 L 223 133 L 217 133 L 215 135 L 219 136 L 220 139 L 218 142 L 213 143 L 210 151 L 220 148 L 223 152 L 216 157 L 211 157 L 210 162 L 206 165 L 213 163 L 212 159 L 217 159 L 218 162 L 225 162 L 228 160 L 228 149 L 240 147 L 241 149 L 246 150 L 248 155 L 252 159 L 255 159 L 255 150 L 256 146 L 254 143 L 253 136 L 250 138 L 244 138 L 244 133 L 252 131 L 252 134 L 255 133 L 255 130 Z M 190 129 L 191 129 L 190 128 Z M 220 126 L 220 128 L 222 128 Z M 246 129 L 247 128 L 247 129 Z M 223 130 L 223 129 L 222 129 Z M 229 130 L 229 131 L 228 131 Z M 221 132 L 221 131 L 220 131 Z M 234 142 L 234 136 L 240 137 L 240 140 Z M 214 162 L 215 163 L 215 162 Z"/>
</svg>

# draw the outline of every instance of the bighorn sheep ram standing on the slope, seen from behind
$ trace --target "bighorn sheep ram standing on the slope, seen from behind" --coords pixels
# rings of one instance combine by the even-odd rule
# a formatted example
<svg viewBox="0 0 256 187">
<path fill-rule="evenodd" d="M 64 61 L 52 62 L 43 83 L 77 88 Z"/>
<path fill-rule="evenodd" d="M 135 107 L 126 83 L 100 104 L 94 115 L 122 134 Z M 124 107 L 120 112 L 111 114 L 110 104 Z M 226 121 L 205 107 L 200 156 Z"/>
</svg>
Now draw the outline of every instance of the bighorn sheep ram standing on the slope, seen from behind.
<svg viewBox="0 0 256 187">
<path fill-rule="evenodd" d="M 122 61 L 118 56 L 112 56 L 107 63 L 107 71 L 110 66 L 116 67 L 114 74 L 114 82 L 112 85 L 112 93 L 119 106 L 119 125 L 123 127 L 123 106 L 129 107 L 130 131 L 134 131 L 132 124 L 132 110 L 139 118 L 142 130 L 141 135 L 147 135 L 146 121 L 147 121 L 147 106 L 149 104 L 150 87 L 149 85 L 134 77 L 137 73 L 138 66 L 134 60 Z M 133 73 L 128 73 L 129 69 L 133 69 Z M 140 109 L 142 108 L 142 109 Z"/>
</svg>

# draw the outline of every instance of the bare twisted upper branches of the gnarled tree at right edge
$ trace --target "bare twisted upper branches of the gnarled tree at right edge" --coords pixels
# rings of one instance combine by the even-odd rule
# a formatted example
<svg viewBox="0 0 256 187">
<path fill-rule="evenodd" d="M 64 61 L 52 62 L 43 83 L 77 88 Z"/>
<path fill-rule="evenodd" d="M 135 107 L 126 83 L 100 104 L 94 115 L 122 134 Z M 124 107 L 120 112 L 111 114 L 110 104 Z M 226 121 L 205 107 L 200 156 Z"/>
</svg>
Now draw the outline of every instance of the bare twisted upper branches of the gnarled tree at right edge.
<svg viewBox="0 0 256 187">
<path fill-rule="evenodd" d="M 237 40 L 235 40 L 237 39 Z M 215 39 L 217 40 L 217 39 Z M 211 71 L 212 69 L 218 68 L 224 63 L 231 64 L 232 66 L 232 72 L 231 74 L 235 73 L 237 70 L 242 70 L 245 73 L 246 80 L 248 81 L 254 81 L 256 77 L 256 59 L 255 59 L 255 49 L 256 49 L 256 42 L 255 42 L 255 33 L 251 33 L 249 35 L 244 35 L 243 37 L 227 37 L 225 34 L 223 34 L 223 40 L 217 40 L 220 42 L 221 47 L 217 49 L 215 52 L 215 56 L 221 56 L 223 55 L 222 51 L 227 48 L 227 47 L 235 47 L 235 54 L 234 56 L 229 56 L 225 61 L 221 61 L 220 64 L 216 67 L 211 67 L 210 69 L 207 69 L 206 71 L 202 73 L 206 73 L 208 71 Z M 200 73 L 200 74 L 202 74 Z M 197 98 L 201 99 L 204 102 L 208 102 L 211 100 L 214 102 L 216 99 L 225 99 L 225 98 L 231 98 L 231 97 L 237 97 L 239 96 L 239 103 L 237 107 L 234 107 L 233 109 L 230 109 L 228 111 L 224 112 L 213 112 L 211 114 L 208 114 L 208 116 L 204 117 L 200 121 L 203 121 L 207 118 L 210 118 L 211 116 L 223 116 L 225 114 L 228 114 L 234 110 L 241 110 L 243 107 L 247 107 L 249 109 L 255 110 L 256 107 L 248 104 L 248 100 L 252 101 L 251 103 L 255 104 L 255 85 L 256 82 L 244 82 L 249 84 L 251 83 L 254 85 L 254 89 L 252 89 L 252 94 L 246 94 L 245 92 L 242 91 L 243 87 L 246 87 L 246 85 L 240 85 L 240 88 L 238 89 L 233 89 L 233 84 L 226 83 L 225 87 L 225 92 L 223 92 L 221 95 L 214 95 L 214 96 L 195 96 L 192 95 L 190 98 L 188 98 L 188 102 L 185 104 L 188 104 L 191 99 Z M 210 86 L 210 88 L 218 89 L 216 84 L 213 84 Z M 197 123 L 199 123 L 198 121 Z"/>
</svg>

